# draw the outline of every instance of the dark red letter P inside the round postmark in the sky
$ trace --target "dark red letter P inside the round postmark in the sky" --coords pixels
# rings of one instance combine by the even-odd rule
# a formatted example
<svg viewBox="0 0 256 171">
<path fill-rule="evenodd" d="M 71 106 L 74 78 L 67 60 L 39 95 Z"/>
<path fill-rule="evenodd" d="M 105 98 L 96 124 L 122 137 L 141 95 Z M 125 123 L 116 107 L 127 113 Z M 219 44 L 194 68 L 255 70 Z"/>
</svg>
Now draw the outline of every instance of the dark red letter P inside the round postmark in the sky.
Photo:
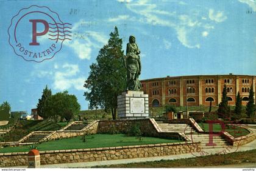
<svg viewBox="0 0 256 171">
<path fill-rule="evenodd" d="M 37 36 L 43 36 L 49 31 L 49 24 L 43 19 L 29 19 L 29 22 L 32 22 L 32 42 L 29 45 L 39 45 L 37 42 Z M 37 22 L 41 22 L 44 25 L 44 30 L 41 33 L 37 33 Z"/>
</svg>

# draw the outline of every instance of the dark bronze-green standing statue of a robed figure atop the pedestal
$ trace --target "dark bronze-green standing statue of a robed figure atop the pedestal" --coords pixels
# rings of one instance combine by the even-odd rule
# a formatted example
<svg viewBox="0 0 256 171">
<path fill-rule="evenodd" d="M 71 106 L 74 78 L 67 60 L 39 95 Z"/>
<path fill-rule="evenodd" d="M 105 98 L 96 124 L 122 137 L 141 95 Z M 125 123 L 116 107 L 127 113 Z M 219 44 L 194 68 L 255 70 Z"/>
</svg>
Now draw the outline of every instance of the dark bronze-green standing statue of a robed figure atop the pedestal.
<svg viewBox="0 0 256 171">
<path fill-rule="evenodd" d="M 139 91 L 141 82 L 138 77 L 141 73 L 140 49 L 135 43 L 135 36 L 130 36 L 129 43 L 126 47 L 126 56 L 124 57 L 124 65 L 127 70 L 127 90 Z"/>
</svg>

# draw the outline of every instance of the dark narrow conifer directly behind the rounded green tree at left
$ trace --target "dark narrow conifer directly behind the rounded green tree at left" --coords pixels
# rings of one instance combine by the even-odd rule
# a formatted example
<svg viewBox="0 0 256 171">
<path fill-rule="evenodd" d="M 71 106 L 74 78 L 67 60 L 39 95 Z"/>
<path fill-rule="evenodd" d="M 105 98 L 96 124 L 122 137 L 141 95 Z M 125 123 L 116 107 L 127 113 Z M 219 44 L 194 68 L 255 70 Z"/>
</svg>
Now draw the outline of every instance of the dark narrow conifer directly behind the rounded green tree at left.
<svg viewBox="0 0 256 171">
<path fill-rule="evenodd" d="M 47 85 L 45 86 L 45 89 L 43 89 L 43 95 L 41 96 L 41 99 L 38 99 L 37 104 L 37 113 L 42 118 L 46 119 L 48 118 L 48 113 L 45 111 L 46 103 L 48 103 L 49 98 L 52 96 L 51 89 L 48 89 Z"/>
</svg>

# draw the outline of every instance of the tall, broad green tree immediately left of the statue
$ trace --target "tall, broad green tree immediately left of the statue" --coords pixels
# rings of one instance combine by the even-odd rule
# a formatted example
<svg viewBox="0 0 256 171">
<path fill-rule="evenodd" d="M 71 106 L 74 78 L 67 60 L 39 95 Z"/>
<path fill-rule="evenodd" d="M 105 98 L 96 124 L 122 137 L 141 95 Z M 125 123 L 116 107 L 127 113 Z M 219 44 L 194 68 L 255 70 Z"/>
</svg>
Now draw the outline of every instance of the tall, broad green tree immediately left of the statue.
<svg viewBox="0 0 256 171">
<path fill-rule="evenodd" d="M 96 63 L 90 65 L 91 71 L 84 84 L 88 89 L 84 96 L 90 101 L 90 106 L 111 110 L 113 119 L 116 119 L 117 96 L 126 90 L 122 43 L 115 27 L 108 43 L 99 51 Z"/>
</svg>

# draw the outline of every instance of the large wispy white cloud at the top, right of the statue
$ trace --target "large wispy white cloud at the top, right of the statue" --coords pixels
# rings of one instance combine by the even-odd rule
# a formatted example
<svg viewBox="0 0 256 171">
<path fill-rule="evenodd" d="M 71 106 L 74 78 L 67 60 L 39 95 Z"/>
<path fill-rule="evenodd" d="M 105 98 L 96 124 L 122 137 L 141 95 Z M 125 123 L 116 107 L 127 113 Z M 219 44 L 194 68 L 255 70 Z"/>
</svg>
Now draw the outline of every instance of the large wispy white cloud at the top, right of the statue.
<svg viewBox="0 0 256 171">
<path fill-rule="evenodd" d="M 179 1 L 166 0 L 165 5 L 172 5 L 167 4 L 170 2 L 175 2 L 177 4 Z M 175 10 L 169 12 L 168 10 L 159 10 L 158 5 L 153 4 L 153 1 L 132 2 L 126 4 L 126 7 L 133 13 L 139 15 L 140 18 L 136 19 L 138 22 L 150 25 L 160 25 L 173 29 L 174 32 L 176 32 L 177 39 L 180 43 L 188 48 L 199 49 L 201 47 L 200 42 L 202 39 L 202 32 L 207 29 L 207 33 L 209 33 L 210 29 L 214 29 L 212 22 L 205 18 L 204 11 L 187 10 L 188 13 L 185 14 L 176 12 Z M 221 19 L 223 20 L 226 17 L 220 12 L 214 13 L 214 16 L 217 21 L 220 21 Z"/>
</svg>

